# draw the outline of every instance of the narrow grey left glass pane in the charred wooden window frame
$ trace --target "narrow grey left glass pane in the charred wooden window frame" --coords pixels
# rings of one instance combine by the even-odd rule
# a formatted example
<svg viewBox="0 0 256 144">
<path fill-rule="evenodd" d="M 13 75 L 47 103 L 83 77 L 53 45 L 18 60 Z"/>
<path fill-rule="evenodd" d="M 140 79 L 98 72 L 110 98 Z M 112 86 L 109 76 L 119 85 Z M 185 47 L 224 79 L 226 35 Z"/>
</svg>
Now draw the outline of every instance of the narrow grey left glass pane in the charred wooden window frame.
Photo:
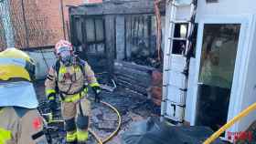
<svg viewBox="0 0 256 144">
<path fill-rule="evenodd" d="M 94 20 L 86 19 L 85 21 L 86 26 L 86 40 L 87 42 L 94 42 L 95 41 L 95 33 L 94 33 Z"/>
</svg>

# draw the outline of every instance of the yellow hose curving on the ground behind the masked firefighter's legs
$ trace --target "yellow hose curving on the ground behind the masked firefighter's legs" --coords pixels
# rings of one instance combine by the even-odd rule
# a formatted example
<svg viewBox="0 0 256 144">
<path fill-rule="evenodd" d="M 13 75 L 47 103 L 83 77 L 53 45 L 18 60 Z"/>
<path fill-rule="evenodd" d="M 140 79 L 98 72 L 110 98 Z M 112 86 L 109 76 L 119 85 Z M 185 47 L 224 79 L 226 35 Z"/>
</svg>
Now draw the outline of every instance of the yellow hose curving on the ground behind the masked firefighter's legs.
<svg viewBox="0 0 256 144">
<path fill-rule="evenodd" d="M 110 141 L 118 133 L 118 131 L 121 128 L 121 123 L 122 123 L 122 121 L 121 121 L 121 114 L 120 114 L 120 112 L 116 108 L 114 108 L 111 104 L 109 104 L 107 102 L 104 102 L 104 101 L 101 101 L 101 104 L 111 108 L 117 114 L 118 125 L 117 125 L 117 128 L 112 132 L 112 134 L 110 136 L 108 136 L 107 138 L 105 138 L 105 139 L 101 139 L 92 129 L 89 129 L 89 132 L 97 140 L 98 144 L 104 144 L 104 143 Z M 52 115 L 50 115 L 49 117 L 50 118 L 49 118 L 48 122 L 46 122 L 46 123 L 64 122 L 64 120 L 54 120 L 52 118 Z"/>
</svg>

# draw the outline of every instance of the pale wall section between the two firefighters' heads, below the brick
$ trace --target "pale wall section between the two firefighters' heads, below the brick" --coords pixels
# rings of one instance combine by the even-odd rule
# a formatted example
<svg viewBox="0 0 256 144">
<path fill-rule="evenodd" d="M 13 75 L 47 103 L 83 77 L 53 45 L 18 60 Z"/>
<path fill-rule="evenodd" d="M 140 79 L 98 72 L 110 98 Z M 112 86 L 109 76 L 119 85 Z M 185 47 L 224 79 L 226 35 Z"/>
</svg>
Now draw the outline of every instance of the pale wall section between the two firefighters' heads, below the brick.
<svg viewBox="0 0 256 144">
<path fill-rule="evenodd" d="M 48 75 L 48 67 L 53 66 L 56 61 L 53 49 L 35 50 L 33 52 L 27 51 L 27 54 L 33 58 L 36 63 L 36 78 L 45 79 Z M 45 57 L 46 61 L 43 57 Z"/>
</svg>

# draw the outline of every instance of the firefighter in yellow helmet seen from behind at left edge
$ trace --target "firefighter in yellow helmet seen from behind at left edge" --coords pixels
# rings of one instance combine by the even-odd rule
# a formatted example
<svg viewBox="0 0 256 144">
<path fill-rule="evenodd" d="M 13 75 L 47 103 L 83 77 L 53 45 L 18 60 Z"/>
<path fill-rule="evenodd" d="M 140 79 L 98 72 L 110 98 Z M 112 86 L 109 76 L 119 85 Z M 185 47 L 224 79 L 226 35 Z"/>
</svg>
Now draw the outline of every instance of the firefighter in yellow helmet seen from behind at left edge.
<svg viewBox="0 0 256 144">
<path fill-rule="evenodd" d="M 0 144 L 47 143 L 32 84 L 35 65 L 26 53 L 0 52 Z"/>
</svg>

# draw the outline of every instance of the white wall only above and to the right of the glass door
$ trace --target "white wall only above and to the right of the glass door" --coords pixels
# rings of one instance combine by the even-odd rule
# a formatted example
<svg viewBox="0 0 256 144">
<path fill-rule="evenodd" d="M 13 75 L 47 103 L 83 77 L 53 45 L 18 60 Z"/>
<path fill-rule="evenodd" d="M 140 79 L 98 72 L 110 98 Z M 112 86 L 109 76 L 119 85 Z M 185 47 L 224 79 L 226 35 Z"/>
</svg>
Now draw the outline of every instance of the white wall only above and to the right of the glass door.
<svg viewBox="0 0 256 144">
<path fill-rule="evenodd" d="M 208 17 L 208 15 L 224 15 L 224 16 L 232 16 L 232 15 L 253 15 L 256 14 L 256 1 L 255 0 L 219 0 L 219 3 L 207 4 L 205 0 L 198 0 L 197 7 L 197 22 L 202 19 Z M 255 16 L 254 16 L 255 17 Z M 234 110 L 231 115 L 236 116 L 241 110 L 249 107 L 252 103 L 256 102 L 256 77 L 253 77 L 256 70 L 256 31 L 255 31 L 255 18 L 254 21 L 251 22 L 251 26 L 247 33 L 251 32 L 251 35 L 246 37 L 246 42 L 251 43 L 249 45 L 249 49 L 251 49 L 250 57 L 244 57 L 246 59 L 246 67 L 247 71 L 244 76 L 246 80 L 244 83 L 240 82 L 241 93 L 240 99 L 241 101 L 237 101 L 235 106 L 237 110 Z M 246 55 L 245 53 L 242 55 Z M 241 106 L 239 106 L 239 104 Z M 230 116 L 229 119 L 233 118 Z M 243 118 L 238 122 L 230 131 L 242 131 L 247 129 L 251 122 L 256 120 L 256 112 L 252 112 L 248 117 Z"/>
</svg>

